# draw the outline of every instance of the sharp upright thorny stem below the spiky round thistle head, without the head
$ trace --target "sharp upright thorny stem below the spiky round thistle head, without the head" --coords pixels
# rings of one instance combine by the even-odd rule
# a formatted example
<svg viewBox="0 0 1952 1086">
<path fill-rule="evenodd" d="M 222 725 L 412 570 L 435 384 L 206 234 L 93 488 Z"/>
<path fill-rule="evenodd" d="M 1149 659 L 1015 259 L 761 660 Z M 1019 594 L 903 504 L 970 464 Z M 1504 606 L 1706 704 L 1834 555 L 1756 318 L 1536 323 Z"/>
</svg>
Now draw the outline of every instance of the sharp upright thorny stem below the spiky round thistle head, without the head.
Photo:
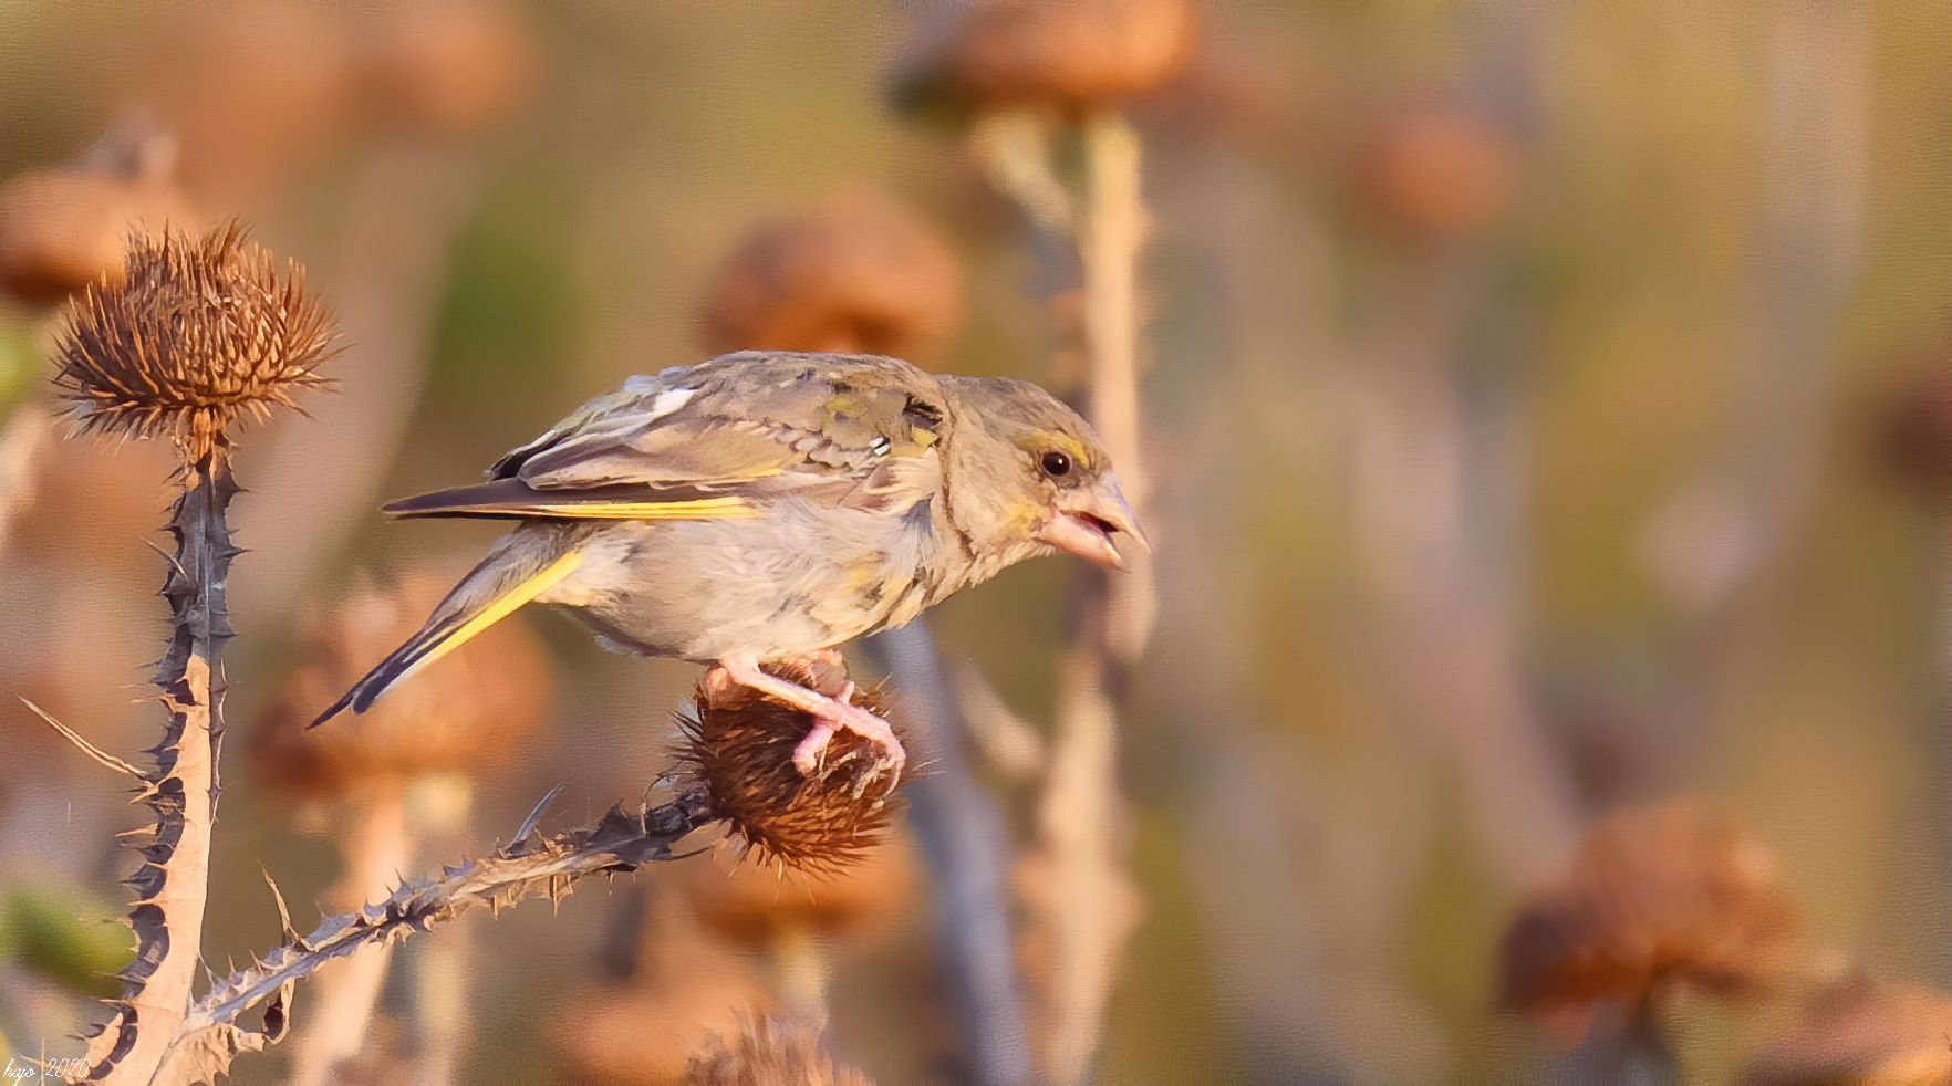
<svg viewBox="0 0 1952 1086">
<path fill-rule="evenodd" d="M 142 866 L 129 877 L 137 891 L 129 909 L 135 961 L 121 971 L 123 994 L 111 1000 L 115 1016 L 88 1045 L 88 1080 L 164 1080 L 170 1041 L 189 1012 L 221 792 L 223 645 L 232 636 L 224 585 L 238 554 L 226 511 L 236 491 L 219 437 L 183 466 L 182 493 L 170 513 L 176 554 L 162 597 L 170 602 L 172 634 L 154 677 L 170 721 L 141 792 L 156 825 L 139 846 Z"/>
</svg>

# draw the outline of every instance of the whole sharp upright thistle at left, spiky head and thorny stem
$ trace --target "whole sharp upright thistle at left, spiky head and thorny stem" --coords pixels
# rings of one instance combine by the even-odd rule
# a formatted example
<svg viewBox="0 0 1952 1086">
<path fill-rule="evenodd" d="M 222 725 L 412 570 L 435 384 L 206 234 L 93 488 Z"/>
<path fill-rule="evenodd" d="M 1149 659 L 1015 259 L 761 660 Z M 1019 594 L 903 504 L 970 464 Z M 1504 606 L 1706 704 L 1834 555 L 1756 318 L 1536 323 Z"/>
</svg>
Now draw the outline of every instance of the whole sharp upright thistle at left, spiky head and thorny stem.
<svg viewBox="0 0 1952 1086">
<path fill-rule="evenodd" d="M 98 751 L 55 725 L 98 762 L 137 780 L 154 825 L 135 844 L 142 864 L 129 877 L 135 959 L 121 971 L 113 1018 L 88 1045 L 86 1076 L 102 1082 L 170 1082 L 182 1068 L 191 985 L 201 971 L 211 836 L 221 794 L 223 647 L 230 640 L 224 589 L 230 560 L 226 511 L 228 427 L 242 415 L 291 406 L 320 382 L 332 328 L 305 294 L 297 267 L 279 273 L 226 224 L 207 236 L 139 236 L 121 281 L 102 279 L 70 302 L 55 357 L 57 384 L 82 429 L 170 437 L 183 456 L 168 532 L 176 540 L 162 597 L 170 641 L 156 665 L 168 712 L 152 768 Z M 51 719 L 53 723 L 53 719 Z M 279 1035 L 265 1022 L 246 1043 Z M 242 1037 L 242 1033 L 240 1033 Z M 182 1078 L 187 1078 L 183 1074 Z"/>
</svg>

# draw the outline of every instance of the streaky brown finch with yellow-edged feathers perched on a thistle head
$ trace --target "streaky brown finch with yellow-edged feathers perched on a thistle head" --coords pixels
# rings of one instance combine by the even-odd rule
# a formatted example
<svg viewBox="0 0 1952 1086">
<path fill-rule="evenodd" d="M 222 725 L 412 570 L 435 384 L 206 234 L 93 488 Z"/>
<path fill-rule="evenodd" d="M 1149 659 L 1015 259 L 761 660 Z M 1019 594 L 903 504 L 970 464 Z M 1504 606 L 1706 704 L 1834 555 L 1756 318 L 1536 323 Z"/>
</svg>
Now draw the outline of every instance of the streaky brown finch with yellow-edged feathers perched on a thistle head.
<svg viewBox="0 0 1952 1086">
<path fill-rule="evenodd" d="M 515 530 L 314 727 L 541 602 L 605 647 L 707 661 L 806 712 L 806 774 L 835 729 L 874 741 L 894 774 L 902 745 L 849 682 L 761 663 L 832 665 L 843 641 L 1052 550 L 1122 567 L 1113 536 L 1146 546 L 1103 445 L 1058 398 L 876 355 L 742 351 L 632 376 L 486 484 L 386 511 Z"/>
</svg>

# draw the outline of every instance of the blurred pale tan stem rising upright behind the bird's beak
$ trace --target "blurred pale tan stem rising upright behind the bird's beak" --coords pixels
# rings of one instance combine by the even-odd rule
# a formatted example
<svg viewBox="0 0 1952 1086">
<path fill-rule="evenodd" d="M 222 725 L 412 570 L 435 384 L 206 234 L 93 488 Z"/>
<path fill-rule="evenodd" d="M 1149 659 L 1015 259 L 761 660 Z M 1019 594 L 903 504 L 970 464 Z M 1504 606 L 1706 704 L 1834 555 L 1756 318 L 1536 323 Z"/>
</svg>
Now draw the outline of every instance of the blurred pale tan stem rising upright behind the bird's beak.
<svg viewBox="0 0 1952 1086">
<path fill-rule="evenodd" d="M 1144 511 L 1150 487 L 1140 462 L 1136 281 L 1146 209 L 1138 133 L 1117 113 L 1097 113 L 1085 121 L 1083 156 L 1078 253 L 1091 421 Z M 1134 558 L 1128 575 L 1089 573 L 1081 583 L 1079 626 L 1058 677 L 1058 737 L 1038 813 L 1056 883 L 1046 899 L 1054 959 L 1042 1051 L 1052 1082 L 1087 1078 L 1117 961 L 1136 920 L 1136 893 L 1120 870 L 1115 739 L 1128 673 L 1154 618 L 1150 560 Z"/>
</svg>

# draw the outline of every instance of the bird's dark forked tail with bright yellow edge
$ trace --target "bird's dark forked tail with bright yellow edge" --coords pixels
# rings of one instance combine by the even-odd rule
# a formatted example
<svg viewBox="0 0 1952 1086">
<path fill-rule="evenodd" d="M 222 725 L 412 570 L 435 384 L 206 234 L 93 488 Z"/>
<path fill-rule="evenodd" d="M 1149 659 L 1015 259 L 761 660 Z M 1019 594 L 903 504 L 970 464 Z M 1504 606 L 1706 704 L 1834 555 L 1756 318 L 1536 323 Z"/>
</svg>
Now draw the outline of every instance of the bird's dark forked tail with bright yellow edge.
<svg viewBox="0 0 1952 1086">
<path fill-rule="evenodd" d="M 418 634 L 379 661 L 365 679 L 353 682 L 353 688 L 318 714 L 310 727 L 318 727 L 346 710 L 367 712 L 396 682 L 459 649 L 584 563 L 584 554 L 576 546 L 564 550 L 556 544 L 560 536 L 545 538 L 550 546 L 535 546 L 537 536 L 527 532 L 506 536 L 480 565 L 447 593 L 447 599 L 433 608 L 433 616 Z"/>
</svg>

